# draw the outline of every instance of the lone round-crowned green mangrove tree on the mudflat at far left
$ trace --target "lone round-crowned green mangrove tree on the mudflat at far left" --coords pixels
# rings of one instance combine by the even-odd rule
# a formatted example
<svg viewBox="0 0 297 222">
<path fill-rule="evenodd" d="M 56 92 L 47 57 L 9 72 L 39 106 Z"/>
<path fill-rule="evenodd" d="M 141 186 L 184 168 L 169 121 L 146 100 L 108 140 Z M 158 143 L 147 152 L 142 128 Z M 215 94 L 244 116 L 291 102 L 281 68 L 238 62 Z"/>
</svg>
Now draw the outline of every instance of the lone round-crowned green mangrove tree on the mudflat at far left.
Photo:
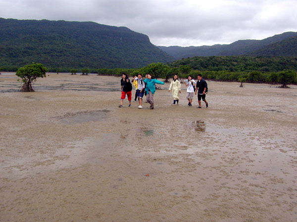
<svg viewBox="0 0 297 222">
<path fill-rule="evenodd" d="M 21 92 L 35 92 L 32 87 L 32 82 L 37 78 L 47 77 L 46 72 L 48 69 L 40 63 L 33 63 L 17 70 L 16 75 L 22 79 L 24 83 L 21 87 Z M 19 80 L 19 79 L 18 79 Z"/>
</svg>

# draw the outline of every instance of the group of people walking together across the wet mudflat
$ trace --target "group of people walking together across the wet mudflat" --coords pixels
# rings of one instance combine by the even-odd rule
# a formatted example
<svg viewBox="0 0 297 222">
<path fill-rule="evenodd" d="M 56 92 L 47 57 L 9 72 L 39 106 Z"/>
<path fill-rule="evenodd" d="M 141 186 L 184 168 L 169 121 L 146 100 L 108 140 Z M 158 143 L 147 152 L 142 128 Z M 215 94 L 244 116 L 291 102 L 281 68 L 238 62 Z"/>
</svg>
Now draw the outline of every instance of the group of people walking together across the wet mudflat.
<svg viewBox="0 0 297 222">
<path fill-rule="evenodd" d="M 156 91 L 155 84 L 164 84 L 164 82 L 159 81 L 157 79 L 152 78 L 151 74 L 146 74 L 145 78 L 142 74 L 138 74 L 138 76 L 134 76 L 132 78 L 133 84 L 136 88 L 135 99 L 138 98 L 139 101 L 139 109 L 143 109 L 143 97 L 147 97 L 147 102 L 150 104 L 149 109 L 153 110 L 154 102 L 153 96 Z M 188 106 L 192 106 L 194 93 L 195 95 L 198 93 L 198 108 L 201 108 L 201 99 L 205 103 L 206 108 L 208 107 L 208 102 L 205 100 L 205 96 L 207 93 L 207 83 L 204 79 L 202 79 L 201 74 L 198 74 L 198 81 L 196 82 L 192 75 L 189 75 L 185 80 L 185 85 L 187 86 L 187 99 L 189 101 Z M 196 88 L 195 88 L 196 87 Z M 179 96 L 181 94 L 181 83 L 178 79 L 178 75 L 175 74 L 170 83 L 168 91 L 172 91 L 173 103 L 171 105 L 178 105 Z M 119 107 L 123 107 L 123 102 L 125 97 L 127 96 L 129 101 L 129 107 L 131 107 L 132 100 L 132 83 L 127 74 L 122 74 L 121 79 L 121 103 Z"/>
</svg>

